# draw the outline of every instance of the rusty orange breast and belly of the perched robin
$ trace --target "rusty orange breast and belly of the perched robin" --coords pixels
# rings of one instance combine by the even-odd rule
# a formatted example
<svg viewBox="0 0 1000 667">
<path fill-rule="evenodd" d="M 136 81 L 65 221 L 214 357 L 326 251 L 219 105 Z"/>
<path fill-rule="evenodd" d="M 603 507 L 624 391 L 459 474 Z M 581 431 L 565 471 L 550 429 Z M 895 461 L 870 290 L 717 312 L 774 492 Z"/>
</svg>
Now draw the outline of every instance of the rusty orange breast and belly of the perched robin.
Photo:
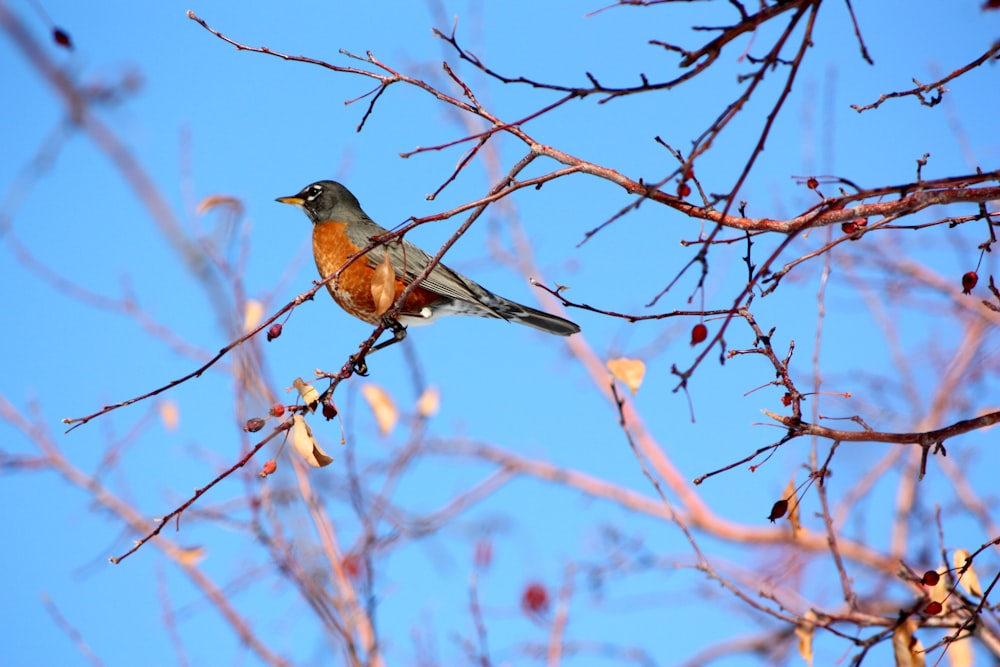
<svg viewBox="0 0 1000 667">
<path fill-rule="evenodd" d="M 313 225 L 313 257 L 322 278 L 339 271 L 347 258 L 360 250 L 347 238 L 344 233 L 346 227 L 346 222 Z M 369 324 L 379 324 L 380 318 L 376 314 L 375 298 L 371 290 L 374 275 L 375 269 L 364 257 L 360 257 L 345 268 L 336 280 L 328 282 L 326 287 L 334 301 L 348 313 Z M 399 295 L 404 289 L 406 283 L 397 278 L 396 294 Z M 439 294 L 417 288 L 407 297 L 401 314 L 419 316 L 423 308 L 440 300 Z"/>
</svg>

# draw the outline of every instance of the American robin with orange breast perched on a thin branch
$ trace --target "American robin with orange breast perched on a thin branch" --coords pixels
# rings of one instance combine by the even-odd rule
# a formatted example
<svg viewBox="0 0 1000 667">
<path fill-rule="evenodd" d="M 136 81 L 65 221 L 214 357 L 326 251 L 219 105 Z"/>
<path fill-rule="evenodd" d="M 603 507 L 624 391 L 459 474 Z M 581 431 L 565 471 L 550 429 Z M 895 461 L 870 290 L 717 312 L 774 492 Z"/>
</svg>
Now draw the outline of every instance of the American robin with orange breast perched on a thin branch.
<svg viewBox="0 0 1000 667">
<path fill-rule="evenodd" d="M 580 331 L 569 320 L 497 296 L 444 264 L 435 266 L 410 293 L 395 320 L 385 321 L 372 295 L 376 267 L 388 253 L 395 273 L 394 294 L 398 296 L 424 272 L 431 256 L 409 241 L 394 239 L 345 266 L 351 255 L 371 246 L 373 239 L 388 230 L 369 218 L 357 198 L 335 181 L 307 185 L 297 195 L 278 197 L 276 201 L 298 206 L 309 216 L 313 223 L 313 256 L 320 276 L 327 278 L 340 271 L 326 284 L 340 307 L 369 324 L 385 324 L 392 329 L 395 337 L 378 347 L 405 338 L 408 325 L 429 324 L 442 315 L 497 317 L 560 336 Z"/>
</svg>

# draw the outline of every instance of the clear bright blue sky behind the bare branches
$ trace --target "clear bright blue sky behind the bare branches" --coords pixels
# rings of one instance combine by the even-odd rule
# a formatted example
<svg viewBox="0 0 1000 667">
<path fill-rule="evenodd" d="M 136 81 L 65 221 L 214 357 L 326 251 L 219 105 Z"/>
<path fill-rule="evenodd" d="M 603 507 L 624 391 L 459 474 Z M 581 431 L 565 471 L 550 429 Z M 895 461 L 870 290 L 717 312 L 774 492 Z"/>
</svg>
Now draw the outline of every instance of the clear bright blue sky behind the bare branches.
<svg viewBox="0 0 1000 667">
<path fill-rule="evenodd" d="M 293 194 L 311 181 L 336 178 L 358 196 L 373 218 L 392 227 L 411 216 L 431 215 L 482 196 L 490 185 L 487 172 L 482 164 L 474 163 L 440 197 L 428 201 L 427 195 L 460 158 L 460 150 L 408 159 L 399 154 L 461 136 L 463 130 L 450 110 L 425 93 L 397 85 L 385 93 L 364 131 L 357 133 L 366 102 L 344 102 L 370 90 L 368 80 L 238 52 L 186 18 L 186 10 L 246 44 L 339 65 L 356 64 L 341 56 L 340 49 L 358 54 L 371 51 L 400 71 L 431 77 L 440 85 L 445 81 L 438 64 L 447 59 L 501 117 L 517 118 L 554 96 L 487 80 L 457 63 L 447 45 L 433 38 L 432 27 L 448 30 L 457 19 L 462 43 L 504 73 L 583 84 L 584 72 L 592 72 L 602 81 L 628 84 L 638 80 L 638 72 L 651 79 L 676 75 L 675 60 L 648 40 L 697 44 L 699 35 L 687 30 L 692 20 L 717 25 L 733 18 L 726 3 L 716 4 L 623 8 L 590 17 L 586 14 L 602 3 L 344 5 L 205 0 L 194 4 L 45 2 L 44 8 L 69 32 L 76 47 L 67 52 L 47 44 L 49 56 L 76 80 L 105 85 L 123 79 L 141 82 L 123 103 L 102 107 L 99 117 L 126 142 L 182 224 L 213 239 L 225 239 L 221 217 L 215 213 L 198 216 L 197 204 L 212 194 L 242 202 L 245 215 L 239 233 L 248 240 L 249 250 L 241 258 L 240 245 L 234 242 L 223 252 L 234 262 L 243 262 L 240 271 L 246 294 L 267 300 L 273 311 L 308 289 L 314 278 L 308 222 L 299 212 L 274 203 L 275 197 Z M 860 115 L 849 105 L 873 102 L 880 93 L 910 87 L 914 77 L 929 81 L 970 61 L 996 38 L 998 13 L 981 13 L 978 2 L 950 3 L 947 11 L 941 3 L 926 1 L 856 4 L 863 5 L 856 9 L 876 67 L 862 62 L 842 3 L 825 5 L 816 47 L 740 193 L 750 202 L 750 215 L 777 218 L 813 203 L 812 193 L 796 185 L 794 176 L 835 173 L 864 186 L 904 183 L 914 179 L 915 160 L 924 153 L 931 154 L 925 170 L 930 177 L 971 173 L 977 165 L 996 168 L 1000 156 L 995 129 L 995 109 L 1000 106 L 996 66 L 981 68 L 950 85 L 946 104 L 933 109 L 912 98 L 890 101 Z M 9 10 L 45 42 L 48 27 L 33 4 L 12 3 Z M 745 42 L 740 43 L 739 48 L 744 47 Z M 727 51 L 717 72 L 676 92 L 603 105 L 589 99 L 577 101 L 532 121 L 526 129 L 546 144 L 633 177 L 656 180 L 674 165 L 652 138 L 658 135 L 686 149 L 729 99 L 733 76 L 743 69 L 735 62 L 738 55 L 736 50 Z M 107 473 L 104 481 L 146 516 L 163 514 L 238 458 L 247 442 L 240 423 L 259 414 L 264 404 L 234 397 L 231 376 L 213 371 L 167 395 L 180 414 L 176 430 L 160 423 L 159 404 L 153 401 L 118 411 L 69 435 L 63 433 L 60 419 L 88 414 L 105 403 L 190 372 L 206 354 L 230 340 L 227 327 L 239 315 L 220 312 L 206 297 L 120 171 L 82 134 L 66 135 L 37 177 L 25 178 L 25 169 L 43 142 L 56 136 L 66 112 L 6 34 L 0 39 L 0 63 L 9 91 L 0 109 L 0 145 L 5 155 L 0 161 L 0 272 L 5 278 L 0 302 L 6 313 L 0 327 L 0 345 L 6 350 L 0 356 L 0 395 L 28 419 L 44 425 L 45 437 L 83 470 L 94 471 L 109 443 L 128 441 L 119 467 Z M 698 176 L 711 191 L 727 190 L 739 173 L 756 139 L 761 112 L 777 92 L 776 84 L 765 86 L 765 92 L 699 162 Z M 522 154 L 514 142 L 500 142 L 504 168 Z M 572 299 L 640 313 L 674 276 L 675 267 L 690 258 L 690 251 L 678 241 L 695 238 L 699 227 L 647 205 L 578 245 L 588 230 L 629 201 L 618 188 L 579 176 L 538 191 L 522 191 L 513 203 L 546 281 L 571 286 L 568 295 Z M 537 292 L 526 276 L 491 255 L 498 241 L 509 243 L 507 216 L 510 211 L 499 210 L 484 216 L 456 244 L 447 262 L 493 291 L 535 303 Z M 929 214 L 920 218 L 930 219 Z M 459 216 L 425 225 L 408 238 L 433 250 L 461 220 Z M 884 252 L 911 255 L 940 275 L 953 277 L 957 285 L 958 276 L 975 266 L 980 235 L 981 230 L 960 229 L 886 238 Z M 804 239 L 797 247 L 811 245 L 810 239 Z M 125 314 L 82 303 L 67 293 L 65 285 L 32 270 L 19 257 L 17 247 L 26 248 L 62 280 L 88 293 L 111 299 L 137 295 L 145 313 L 196 351 L 188 353 L 188 348 L 152 338 Z M 760 252 L 766 247 L 768 242 L 762 241 Z M 734 246 L 713 254 L 706 288 L 708 307 L 729 305 L 745 279 L 743 252 L 744 247 Z M 985 276 L 990 266 L 985 265 L 980 274 Z M 818 263 L 806 265 L 782 291 L 756 304 L 759 319 L 779 327 L 782 345 L 796 340 L 796 364 L 803 373 L 809 372 L 812 363 L 820 268 Z M 692 274 L 658 309 L 689 307 L 685 299 L 693 284 Z M 916 428 L 914 414 L 930 404 L 932 395 L 934 372 L 928 369 L 941 368 L 947 360 L 928 354 L 926 363 L 915 363 L 916 399 L 909 403 L 893 404 L 891 389 L 888 397 L 876 395 L 878 387 L 885 385 L 868 383 L 859 369 L 891 376 L 893 359 L 877 321 L 859 295 L 849 280 L 834 281 L 822 347 L 824 387 L 850 391 L 858 403 L 845 407 L 823 399 L 821 411 L 844 414 L 865 406 L 866 418 L 881 428 Z M 943 308 L 933 297 L 927 301 L 933 308 Z M 892 304 L 887 307 L 891 310 Z M 927 341 L 949 349 L 961 335 L 957 320 L 928 318 L 912 308 L 901 308 L 897 315 L 903 336 L 900 345 L 906 350 L 928 349 L 924 347 Z M 583 327 L 587 344 L 602 359 L 622 354 L 644 358 L 648 371 L 636 407 L 686 477 L 726 465 L 779 437 L 776 429 L 753 426 L 765 421 L 761 409 L 780 410 L 778 390 L 748 393 L 771 378 L 761 360 L 704 364 L 690 386 L 697 418 L 692 424 L 687 397 L 673 392 L 676 379 L 670 368 L 693 358 L 687 343 L 693 322 L 629 325 L 581 311 L 569 316 Z M 752 343 L 745 328 L 732 331 L 731 348 Z M 269 389 L 283 392 L 295 377 L 308 377 L 314 368 L 339 367 L 368 333 L 368 325 L 352 320 L 325 295 L 318 295 L 315 302 L 296 310 L 280 339 L 262 345 L 272 373 L 267 378 Z M 432 440 L 491 443 L 653 495 L 613 410 L 573 359 L 565 341 L 499 322 L 455 318 L 430 329 L 412 330 L 407 344 L 426 382 L 441 390 L 440 412 L 428 424 Z M 371 361 L 368 381 L 385 388 L 404 412 L 412 414 L 416 393 L 406 358 L 400 349 L 380 352 Z M 983 382 L 996 388 L 995 378 Z M 407 429 L 400 427 L 388 438 L 380 436 L 359 386 L 357 379 L 345 384 L 338 390 L 338 402 L 346 416 L 347 446 L 355 448 L 362 464 L 375 465 L 406 443 Z M 234 416 L 236 404 L 246 411 L 242 416 Z M 990 406 L 988 398 L 980 395 L 969 403 L 969 410 L 974 413 Z M 129 440 L 132 429 L 140 435 Z M 331 515 L 342 526 L 345 543 L 350 544 L 356 531 L 343 502 L 345 454 L 338 444 L 340 429 L 331 422 L 317 423 L 314 430 L 337 461 L 312 471 L 312 483 L 321 490 Z M 980 477 L 996 469 L 995 452 L 981 447 L 991 438 L 995 440 L 996 435 L 969 436 L 949 450 L 952 458 L 969 467 L 973 481 L 983 481 Z M 31 441 L 9 423 L 0 423 L 0 439 L 5 453 L 37 453 Z M 805 441 L 796 442 L 758 473 L 737 469 L 699 487 L 699 492 L 723 516 L 762 525 L 788 478 L 798 471 L 801 481 L 800 466 L 807 448 Z M 889 448 L 847 450 L 837 469 L 845 480 L 862 475 Z M 286 455 L 279 456 L 279 463 Z M 251 468 L 257 469 L 257 462 L 272 456 L 274 447 L 262 452 Z M 288 468 L 282 468 L 279 475 L 290 475 Z M 491 470 L 481 462 L 430 456 L 403 479 L 398 499 L 411 511 L 428 511 Z M 279 476 L 272 482 L 277 485 L 281 479 L 287 482 Z M 932 486 L 935 483 L 929 480 L 921 489 L 939 488 Z M 224 482 L 199 505 L 205 510 L 225 508 L 227 501 L 236 502 L 251 484 L 258 484 L 252 471 L 245 479 Z M 891 505 L 893 493 L 892 484 L 879 489 L 871 507 L 878 508 L 879 501 L 882 506 Z M 928 497 L 934 493 L 929 491 Z M 953 509 L 954 498 L 942 495 L 938 502 L 946 511 Z M 46 612 L 42 600 L 48 596 L 105 664 L 135 664 L 139 658 L 147 664 L 179 663 L 161 621 L 161 587 L 165 587 L 171 604 L 180 610 L 178 632 L 191 664 L 259 664 L 224 629 L 218 614 L 201 601 L 188 579 L 157 550 L 146 547 L 118 567 L 107 565 L 108 556 L 127 549 L 137 536 L 123 532 L 119 522 L 62 478 L 50 472 L 8 472 L 0 482 L 0 505 L 8 535 L 0 564 L 9 573 L 6 607 L 11 610 L 0 629 L 5 662 L 81 661 L 77 648 Z M 809 511 L 815 509 L 814 504 Z M 246 518 L 239 511 L 236 515 Z M 858 530 L 879 544 L 884 518 L 871 509 L 858 519 Z M 520 613 L 520 591 L 533 580 L 555 591 L 568 560 L 600 561 L 601 554 L 606 555 L 609 526 L 642 541 L 663 563 L 677 567 L 628 576 L 619 573 L 620 580 L 608 582 L 603 595 L 578 584 L 572 638 L 639 645 L 656 664 L 675 664 L 718 636 L 720 615 L 725 615 L 727 634 L 757 627 L 744 607 L 686 567 L 691 563 L 690 548 L 674 526 L 576 491 L 522 479 L 463 514 L 442 533 L 408 544 L 385 559 L 378 593 L 389 664 L 415 663 L 416 634 L 436 647 L 441 664 L 458 660 L 461 652 L 454 636 L 474 637 L 467 589 L 473 545 L 484 533 L 493 535 L 495 555 L 480 580 L 490 646 L 497 664 L 521 664 L 524 657 L 516 647 L 523 641 L 544 642 L 547 634 Z M 295 530 L 308 533 L 305 526 Z M 954 542 L 949 546 L 961 543 L 973 548 L 990 536 L 974 521 L 959 518 L 948 537 Z M 181 522 L 181 532 L 172 533 L 171 538 L 184 546 L 204 547 L 208 556 L 203 567 L 217 581 L 249 578 L 250 583 L 233 587 L 232 602 L 273 650 L 297 664 L 336 663 L 331 657 L 336 653 L 331 653 L 322 631 L 301 620 L 311 618 L 308 610 L 293 592 L 282 589 L 280 580 L 268 577 L 264 554 L 255 550 L 245 533 L 224 522 L 192 516 Z M 732 559 L 742 566 L 774 567 L 769 562 L 773 554 L 757 551 L 752 562 L 746 562 L 747 556 L 731 546 L 702 539 L 720 562 Z M 916 538 L 914 542 L 921 543 Z M 263 582 L 256 583 L 255 577 Z M 825 591 L 822 584 L 814 585 L 821 590 L 818 597 L 835 597 L 835 582 Z M 831 661 L 844 649 L 833 642 L 823 648 Z M 576 664 L 595 664 L 581 660 Z M 573 664 L 569 659 L 567 663 Z M 733 659 L 724 664 L 758 663 Z"/>
</svg>

